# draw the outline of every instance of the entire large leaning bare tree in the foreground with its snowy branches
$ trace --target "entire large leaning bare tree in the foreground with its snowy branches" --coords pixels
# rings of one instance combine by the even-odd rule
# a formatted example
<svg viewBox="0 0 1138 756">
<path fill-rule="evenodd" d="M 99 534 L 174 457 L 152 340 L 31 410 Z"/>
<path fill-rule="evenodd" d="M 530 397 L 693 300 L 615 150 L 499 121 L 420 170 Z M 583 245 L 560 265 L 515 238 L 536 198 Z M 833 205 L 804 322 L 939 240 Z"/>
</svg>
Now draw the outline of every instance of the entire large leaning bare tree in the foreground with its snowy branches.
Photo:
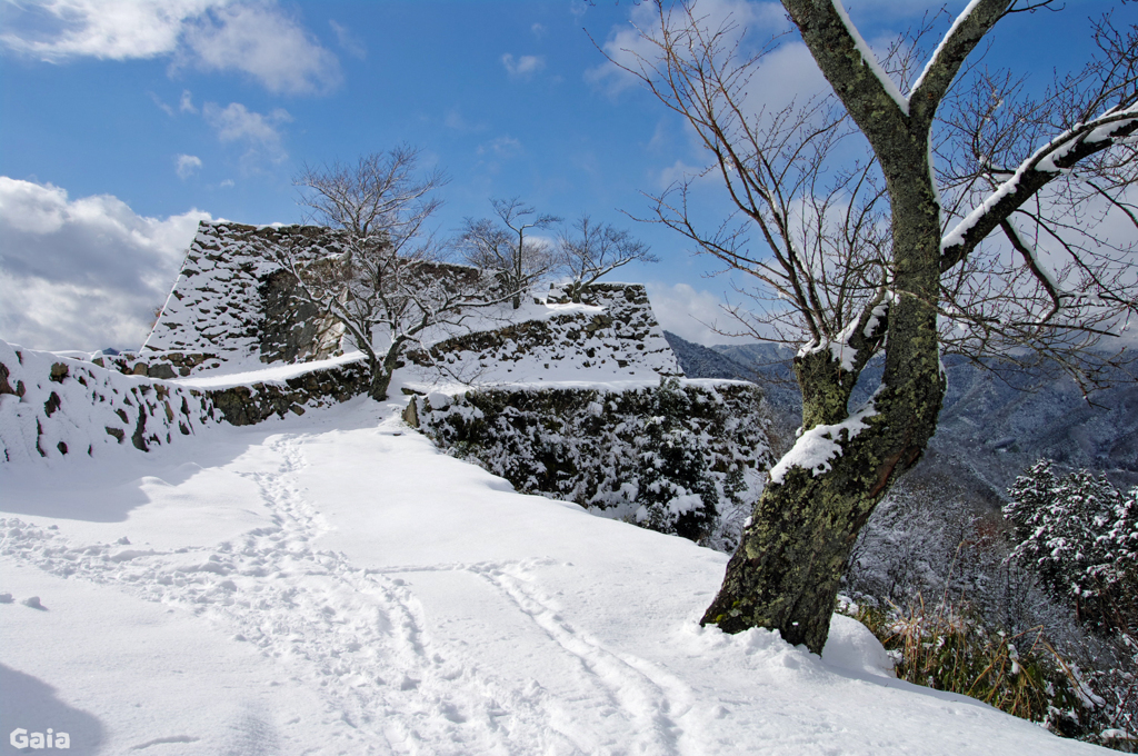
<svg viewBox="0 0 1138 756">
<path fill-rule="evenodd" d="M 745 52 L 743 30 L 691 5 L 659 5 L 642 31 L 651 52 L 621 67 L 687 120 L 734 209 L 702 223 L 684 181 L 654 198 L 655 222 L 752 277 L 741 321 L 800 346 L 801 435 L 702 622 L 820 652 L 859 529 L 937 428 L 942 351 L 1049 361 L 1086 387 L 1118 363 L 1099 347 L 1121 350 L 1138 314 L 1138 30 L 1105 18 L 1097 57 L 1033 101 L 966 60 L 998 22 L 1049 0 L 970 3 L 915 77 L 920 39 L 880 61 L 840 0 L 782 1 L 831 96 L 747 102 L 774 43 Z M 1121 240 L 1113 222 L 1130 228 Z M 881 386 L 850 408 L 877 354 Z"/>
</svg>

